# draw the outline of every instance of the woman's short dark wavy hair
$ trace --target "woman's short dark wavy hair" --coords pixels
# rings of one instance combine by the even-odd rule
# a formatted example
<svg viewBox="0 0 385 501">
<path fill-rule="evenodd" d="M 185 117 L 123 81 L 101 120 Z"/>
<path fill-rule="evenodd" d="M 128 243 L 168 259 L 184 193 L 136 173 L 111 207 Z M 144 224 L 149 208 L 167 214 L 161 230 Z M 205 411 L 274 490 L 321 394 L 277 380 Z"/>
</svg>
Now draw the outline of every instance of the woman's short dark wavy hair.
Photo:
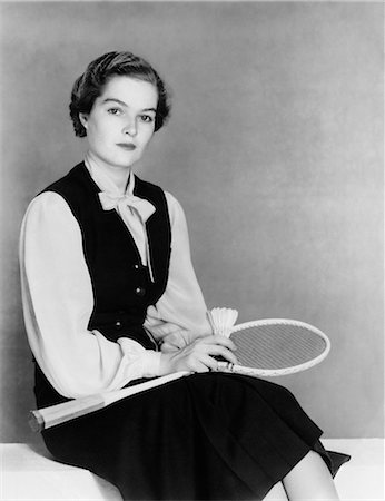
<svg viewBox="0 0 385 501">
<path fill-rule="evenodd" d="M 73 84 L 69 109 L 76 136 L 87 136 L 87 131 L 79 119 L 79 114 L 91 111 L 93 102 L 102 94 L 105 85 L 116 75 L 152 84 L 158 90 L 155 131 L 159 130 L 166 122 L 170 114 L 170 94 L 151 65 L 132 52 L 107 52 L 91 61 L 86 71 Z"/>
</svg>

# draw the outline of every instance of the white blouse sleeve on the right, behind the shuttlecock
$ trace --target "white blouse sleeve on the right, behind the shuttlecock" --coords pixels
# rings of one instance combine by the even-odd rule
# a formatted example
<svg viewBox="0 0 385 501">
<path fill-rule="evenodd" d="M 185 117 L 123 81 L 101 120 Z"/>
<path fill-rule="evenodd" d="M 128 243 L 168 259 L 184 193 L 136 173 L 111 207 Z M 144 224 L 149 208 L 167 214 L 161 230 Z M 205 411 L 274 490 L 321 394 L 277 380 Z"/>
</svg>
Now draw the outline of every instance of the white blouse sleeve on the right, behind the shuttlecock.
<svg viewBox="0 0 385 501">
<path fill-rule="evenodd" d="M 155 338 L 182 347 L 211 333 L 207 308 L 190 255 L 188 229 L 179 202 L 166 191 L 171 224 L 171 256 L 165 293 L 147 311 L 145 327 Z"/>
</svg>

